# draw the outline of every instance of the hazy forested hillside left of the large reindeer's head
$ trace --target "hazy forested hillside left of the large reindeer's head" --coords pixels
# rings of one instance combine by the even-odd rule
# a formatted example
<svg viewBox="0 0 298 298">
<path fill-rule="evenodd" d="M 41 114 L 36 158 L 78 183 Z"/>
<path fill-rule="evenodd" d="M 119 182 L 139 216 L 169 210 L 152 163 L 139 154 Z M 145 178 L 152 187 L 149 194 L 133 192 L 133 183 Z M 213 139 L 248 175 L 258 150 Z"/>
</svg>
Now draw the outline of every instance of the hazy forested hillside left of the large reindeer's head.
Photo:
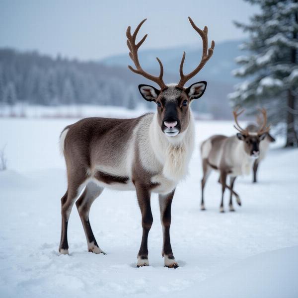
<svg viewBox="0 0 298 298">
<path fill-rule="evenodd" d="M 0 103 L 134 108 L 140 96 L 127 73 L 96 62 L 0 49 Z"/>
</svg>

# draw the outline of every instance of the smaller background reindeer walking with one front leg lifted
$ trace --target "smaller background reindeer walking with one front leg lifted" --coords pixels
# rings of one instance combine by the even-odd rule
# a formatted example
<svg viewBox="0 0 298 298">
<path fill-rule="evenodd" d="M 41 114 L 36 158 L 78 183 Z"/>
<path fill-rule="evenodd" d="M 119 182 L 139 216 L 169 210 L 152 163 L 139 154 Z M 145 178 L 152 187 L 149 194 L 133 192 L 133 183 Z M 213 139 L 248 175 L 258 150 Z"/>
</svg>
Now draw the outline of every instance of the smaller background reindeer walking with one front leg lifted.
<svg viewBox="0 0 298 298">
<path fill-rule="evenodd" d="M 220 212 L 224 212 L 224 190 L 230 190 L 229 211 L 235 211 L 232 203 L 232 195 L 236 197 L 236 202 L 241 206 L 239 195 L 233 190 L 234 182 L 239 175 L 248 175 L 255 160 L 260 157 L 260 142 L 262 142 L 270 129 L 267 124 L 266 110 L 262 109 L 264 118 L 262 126 L 257 132 L 249 132 L 247 129 L 242 129 L 238 123 L 238 116 L 244 110 L 238 112 L 233 111 L 235 120 L 234 127 L 238 130 L 234 136 L 226 137 L 223 135 L 215 135 L 204 141 L 201 145 L 201 157 L 203 166 L 202 178 L 202 200 L 201 210 L 205 210 L 204 205 L 204 187 L 208 176 L 212 169 L 220 172 L 219 182 L 222 184 L 222 201 Z M 230 185 L 226 184 L 226 177 L 230 177 Z"/>
</svg>

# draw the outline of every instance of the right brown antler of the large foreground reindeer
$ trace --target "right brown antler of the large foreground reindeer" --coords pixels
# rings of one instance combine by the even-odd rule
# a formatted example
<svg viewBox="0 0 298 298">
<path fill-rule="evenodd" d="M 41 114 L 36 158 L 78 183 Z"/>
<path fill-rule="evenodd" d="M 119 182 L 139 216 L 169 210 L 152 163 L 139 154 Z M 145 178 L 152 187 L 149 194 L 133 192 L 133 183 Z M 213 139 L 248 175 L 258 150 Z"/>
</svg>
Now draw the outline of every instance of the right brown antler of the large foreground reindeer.
<svg viewBox="0 0 298 298">
<path fill-rule="evenodd" d="M 204 27 L 204 30 L 199 29 L 195 23 L 193 22 L 193 20 L 188 17 L 191 25 L 193 26 L 193 28 L 200 34 L 200 36 L 202 37 L 202 41 L 203 41 L 203 54 L 202 54 L 202 59 L 200 64 L 198 65 L 198 67 L 192 71 L 189 74 L 184 75 L 183 74 L 183 64 L 184 64 L 184 60 L 185 60 L 185 52 L 183 52 L 183 57 L 181 59 L 181 64 L 180 64 L 180 81 L 177 85 L 178 88 L 183 88 L 183 86 L 185 85 L 185 83 L 191 79 L 193 76 L 195 76 L 196 74 L 199 73 L 199 71 L 204 67 L 204 65 L 206 64 L 206 62 L 211 58 L 211 56 L 213 55 L 213 50 L 215 47 L 215 42 L 214 40 L 211 42 L 211 48 L 208 49 L 207 52 L 207 48 L 208 48 L 208 28 L 207 26 Z"/>
</svg>

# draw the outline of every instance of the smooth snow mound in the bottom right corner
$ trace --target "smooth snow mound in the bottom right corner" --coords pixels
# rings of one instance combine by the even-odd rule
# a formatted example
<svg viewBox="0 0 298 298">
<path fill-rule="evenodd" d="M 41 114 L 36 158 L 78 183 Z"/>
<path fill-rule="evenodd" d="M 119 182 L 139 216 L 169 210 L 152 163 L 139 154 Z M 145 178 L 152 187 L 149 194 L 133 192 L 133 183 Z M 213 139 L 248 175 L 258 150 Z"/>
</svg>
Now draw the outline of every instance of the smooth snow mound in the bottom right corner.
<svg viewBox="0 0 298 298">
<path fill-rule="evenodd" d="M 200 285 L 200 292 L 205 298 L 295 297 L 297 263 L 298 246 L 261 253 L 206 279 Z M 188 294 L 191 297 L 189 291 L 184 292 L 184 297 Z"/>
</svg>

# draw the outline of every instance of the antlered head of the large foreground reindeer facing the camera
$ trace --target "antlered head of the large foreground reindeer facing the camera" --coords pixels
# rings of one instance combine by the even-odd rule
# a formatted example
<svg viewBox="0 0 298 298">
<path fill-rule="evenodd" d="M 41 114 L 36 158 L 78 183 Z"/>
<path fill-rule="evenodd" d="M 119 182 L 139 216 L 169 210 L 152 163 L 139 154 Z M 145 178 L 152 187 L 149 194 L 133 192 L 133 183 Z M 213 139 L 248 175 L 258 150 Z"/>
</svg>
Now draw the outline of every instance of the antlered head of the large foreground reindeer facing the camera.
<svg viewBox="0 0 298 298">
<path fill-rule="evenodd" d="M 206 81 L 200 81 L 192 84 L 188 88 L 184 87 L 184 84 L 192 78 L 194 75 L 198 74 L 199 71 L 204 67 L 206 62 L 211 58 L 214 50 L 215 43 L 212 41 L 211 48 L 208 49 L 208 28 L 205 26 L 204 30 L 199 29 L 193 20 L 189 17 L 189 21 L 193 28 L 200 34 L 203 40 L 203 54 L 201 62 L 198 67 L 189 74 L 183 74 L 183 64 L 185 60 L 185 52 L 183 53 L 183 57 L 180 64 L 180 81 L 178 84 L 168 84 L 166 85 L 163 82 L 163 66 L 161 61 L 156 57 L 159 66 L 160 73 L 159 76 L 153 76 L 151 74 L 146 73 L 139 62 L 138 59 L 138 49 L 143 44 L 145 39 L 147 38 L 147 34 L 136 44 L 137 34 L 142 26 L 142 24 L 146 21 L 144 19 L 136 28 L 133 35 L 131 34 L 131 27 L 127 28 L 126 36 L 127 36 L 127 46 L 130 50 L 130 57 L 134 62 L 136 69 L 133 69 L 129 66 L 129 69 L 136 73 L 141 74 L 148 78 L 151 81 L 157 83 L 160 89 L 157 89 L 150 85 L 139 85 L 139 90 L 142 96 L 148 101 L 154 101 L 157 105 L 157 119 L 158 124 L 162 130 L 168 137 L 175 137 L 179 133 L 185 131 L 189 124 L 190 112 L 189 112 L 189 104 L 193 99 L 201 97 L 207 86 Z M 207 50 L 208 49 L 208 50 Z"/>
</svg>

